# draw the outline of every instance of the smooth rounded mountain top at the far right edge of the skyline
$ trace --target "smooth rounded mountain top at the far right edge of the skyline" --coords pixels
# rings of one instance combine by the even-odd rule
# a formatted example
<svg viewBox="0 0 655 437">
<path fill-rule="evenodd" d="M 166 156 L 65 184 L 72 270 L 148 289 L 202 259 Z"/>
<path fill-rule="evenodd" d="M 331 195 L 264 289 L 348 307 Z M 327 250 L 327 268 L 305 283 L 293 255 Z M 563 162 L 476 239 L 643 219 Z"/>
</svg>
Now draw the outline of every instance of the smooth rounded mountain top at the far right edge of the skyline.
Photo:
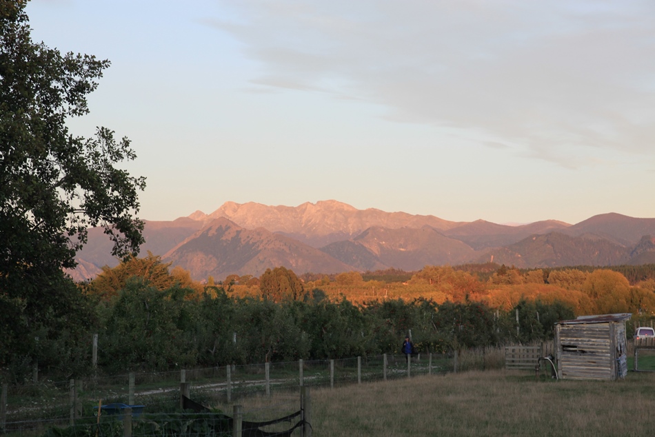
<svg viewBox="0 0 655 437">
<path fill-rule="evenodd" d="M 655 235 L 655 219 L 636 219 L 610 212 L 593 216 L 576 223 L 564 231 L 565 234 L 597 234 L 614 238 L 624 245 L 635 245 L 644 235 Z"/>
</svg>

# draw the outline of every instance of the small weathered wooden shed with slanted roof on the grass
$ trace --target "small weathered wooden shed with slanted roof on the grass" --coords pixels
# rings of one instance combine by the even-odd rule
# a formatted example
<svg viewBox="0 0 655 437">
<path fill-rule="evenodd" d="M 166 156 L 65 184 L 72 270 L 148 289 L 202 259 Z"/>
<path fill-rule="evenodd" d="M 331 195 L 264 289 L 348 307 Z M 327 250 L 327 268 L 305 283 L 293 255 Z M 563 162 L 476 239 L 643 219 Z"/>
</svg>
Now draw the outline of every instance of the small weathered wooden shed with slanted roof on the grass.
<svg viewBox="0 0 655 437">
<path fill-rule="evenodd" d="M 631 316 L 629 313 L 580 316 L 575 320 L 556 323 L 558 378 L 625 378 L 625 321 Z"/>
</svg>

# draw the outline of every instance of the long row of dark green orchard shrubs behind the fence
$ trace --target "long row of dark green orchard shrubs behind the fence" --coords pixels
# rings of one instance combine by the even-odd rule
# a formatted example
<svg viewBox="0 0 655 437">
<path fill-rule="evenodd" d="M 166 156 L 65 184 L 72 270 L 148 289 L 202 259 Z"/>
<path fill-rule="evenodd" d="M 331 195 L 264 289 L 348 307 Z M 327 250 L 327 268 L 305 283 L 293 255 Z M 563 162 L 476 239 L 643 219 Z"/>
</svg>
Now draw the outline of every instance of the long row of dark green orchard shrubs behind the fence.
<svg viewBox="0 0 655 437">
<path fill-rule="evenodd" d="M 44 333 L 41 341 L 26 343 L 23 355 L 10 357 L 3 379 L 21 383 L 35 363 L 40 372 L 68 378 L 399 353 L 407 334 L 417 352 L 440 353 L 552 338 L 553 324 L 574 316 L 557 302 L 521 301 L 502 312 L 476 302 L 438 305 L 419 298 L 354 305 L 324 296 L 314 289 L 303 301 L 275 303 L 207 287 L 198 297 L 179 285 L 162 291 L 134 278 L 115 298 L 88 297 L 92 323 L 79 327 L 69 319 L 52 338 Z M 93 333 L 99 334 L 96 369 Z"/>
</svg>

